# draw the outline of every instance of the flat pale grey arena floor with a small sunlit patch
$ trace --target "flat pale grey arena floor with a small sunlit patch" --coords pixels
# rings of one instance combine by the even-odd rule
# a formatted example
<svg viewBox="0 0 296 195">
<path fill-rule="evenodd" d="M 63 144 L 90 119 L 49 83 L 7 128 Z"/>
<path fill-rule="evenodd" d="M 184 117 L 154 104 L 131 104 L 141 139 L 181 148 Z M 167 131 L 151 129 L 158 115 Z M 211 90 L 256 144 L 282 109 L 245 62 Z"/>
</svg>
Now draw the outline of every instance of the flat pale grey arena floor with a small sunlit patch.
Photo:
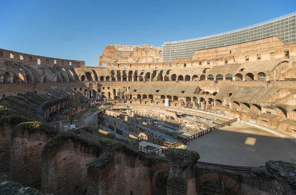
<svg viewBox="0 0 296 195">
<path fill-rule="evenodd" d="M 295 142 L 238 122 L 190 141 L 185 148 L 198 152 L 199 161 L 225 165 L 257 167 L 268 160 L 296 160 Z"/>
</svg>

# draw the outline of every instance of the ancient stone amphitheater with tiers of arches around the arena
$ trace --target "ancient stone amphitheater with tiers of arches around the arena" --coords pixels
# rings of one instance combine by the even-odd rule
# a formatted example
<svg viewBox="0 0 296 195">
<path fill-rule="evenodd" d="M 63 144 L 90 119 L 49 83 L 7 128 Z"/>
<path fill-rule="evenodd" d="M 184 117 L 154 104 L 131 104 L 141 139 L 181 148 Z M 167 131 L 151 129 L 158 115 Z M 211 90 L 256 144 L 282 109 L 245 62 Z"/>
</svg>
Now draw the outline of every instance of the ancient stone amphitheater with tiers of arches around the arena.
<svg viewBox="0 0 296 195">
<path fill-rule="evenodd" d="M 0 194 L 295 195 L 296 43 L 162 49 L 0 49 Z"/>
</svg>

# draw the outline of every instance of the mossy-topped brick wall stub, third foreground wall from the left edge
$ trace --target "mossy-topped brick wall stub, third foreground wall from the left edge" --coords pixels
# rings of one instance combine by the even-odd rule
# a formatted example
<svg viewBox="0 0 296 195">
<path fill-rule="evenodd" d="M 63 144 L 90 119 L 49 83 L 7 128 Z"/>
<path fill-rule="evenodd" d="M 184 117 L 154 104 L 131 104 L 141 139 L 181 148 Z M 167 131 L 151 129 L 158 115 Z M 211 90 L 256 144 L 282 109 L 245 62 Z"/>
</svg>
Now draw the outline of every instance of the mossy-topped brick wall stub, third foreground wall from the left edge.
<svg viewBox="0 0 296 195">
<path fill-rule="evenodd" d="M 87 167 L 101 153 L 100 144 L 61 131 L 43 149 L 41 191 L 57 195 L 83 194 Z"/>
</svg>

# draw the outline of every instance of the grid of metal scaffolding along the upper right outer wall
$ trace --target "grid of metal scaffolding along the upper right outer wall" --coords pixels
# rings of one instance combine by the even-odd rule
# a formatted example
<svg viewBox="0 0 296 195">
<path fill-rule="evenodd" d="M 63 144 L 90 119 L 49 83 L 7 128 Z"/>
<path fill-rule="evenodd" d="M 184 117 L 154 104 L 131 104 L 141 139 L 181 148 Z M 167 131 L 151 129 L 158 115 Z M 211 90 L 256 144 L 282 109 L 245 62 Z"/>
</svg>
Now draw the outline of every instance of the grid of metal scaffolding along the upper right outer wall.
<svg viewBox="0 0 296 195">
<path fill-rule="evenodd" d="M 296 12 L 249 27 L 219 34 L 188 40 L 164 42 L 162 45 L 162 61 L 190 58 L 198 50 L 235 45 L 272 36 L 277 36 L 284 43 L 295 43 Z"/>
</svg>

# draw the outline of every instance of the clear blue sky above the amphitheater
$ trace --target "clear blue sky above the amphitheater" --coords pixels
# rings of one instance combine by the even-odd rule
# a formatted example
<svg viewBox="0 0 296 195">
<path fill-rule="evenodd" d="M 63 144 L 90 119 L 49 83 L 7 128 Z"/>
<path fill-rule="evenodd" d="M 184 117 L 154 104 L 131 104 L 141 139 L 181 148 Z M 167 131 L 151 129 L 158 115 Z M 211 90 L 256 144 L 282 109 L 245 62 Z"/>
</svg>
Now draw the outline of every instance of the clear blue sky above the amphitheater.
<svg viewBox="0 0 296 195">
<path fill-rule="evenodd" d="M 0 48 L 97 66 L 107 44 L 161 46 L 296 11 L 296 0 L 1 0 Z"/>
</svg>

